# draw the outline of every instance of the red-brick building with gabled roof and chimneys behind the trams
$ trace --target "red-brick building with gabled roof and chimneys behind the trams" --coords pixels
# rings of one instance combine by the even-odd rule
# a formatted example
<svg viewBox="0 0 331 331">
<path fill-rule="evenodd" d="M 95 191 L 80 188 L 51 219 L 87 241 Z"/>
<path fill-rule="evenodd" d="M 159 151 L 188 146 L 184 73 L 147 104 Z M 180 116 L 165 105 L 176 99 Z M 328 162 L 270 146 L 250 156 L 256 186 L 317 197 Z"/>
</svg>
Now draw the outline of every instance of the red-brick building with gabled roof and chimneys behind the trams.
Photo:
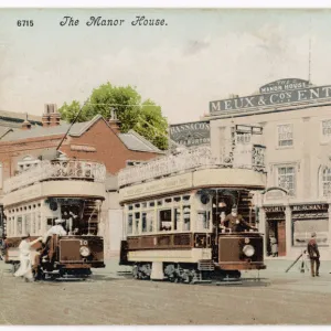
<svg viewBox="0 0 331 331">
<path fill-rule="evenodd" d="M 89 121 L 74 124 L 71 129 L 68 124 L 61 121 L 56 105 L 46 105 L 43 116 L 33 117 L 33 120 L 28 115 L 25 119 L 22 114 L 18 114 L 17 119 L 14 113 L 7 111 L 6 115 L 7 120 L 1 122 L 0 113 L 0 202 L 3 181 L 41 160 L 62 156 L 102 162 L 106 166 L 108 191 L 111 192 L 105 192 L 102 224 L 106 250 L 109 250 L 110 233 L 118 236 L 121 228 L 120 207 L 116 203 L 117 172 L 134 162 L 159 157 L 162 151 L 135 131 L 121 134 L 118 120 L 107 121 L 100 115 Z M 108 225 L 111 217 L 116 217 L 116 221 L 111 220 L 114 229 Z M 116 231 L 118 226 L 119 231 Z"/>
</svg>

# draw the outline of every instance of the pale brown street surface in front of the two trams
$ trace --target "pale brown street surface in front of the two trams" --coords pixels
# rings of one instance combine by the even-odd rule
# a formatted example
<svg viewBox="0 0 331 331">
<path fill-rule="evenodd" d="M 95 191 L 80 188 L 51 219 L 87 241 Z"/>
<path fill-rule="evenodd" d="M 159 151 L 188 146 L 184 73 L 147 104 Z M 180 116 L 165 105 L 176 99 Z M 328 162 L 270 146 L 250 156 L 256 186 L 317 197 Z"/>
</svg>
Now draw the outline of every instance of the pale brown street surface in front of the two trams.
<svg viewBox="0 0 331 331">
<path fill-rule="evenodd" d="M 330 324 L 331 275 L 245 273 L 243 285 L 134 280 L 114 268 L 86 281 L 24 282 L 0 261 L 1 324 Z M 323 264 L 322 264 L 323 265 Z M 113 268 L 113 270 L 111 270 Z M 271 268 L 273 269 L 273 268 Z M 275 274 L 273 277 L 269 277 Z M 265 277 L 267 276 L 267 277 Z"/>
</svg>

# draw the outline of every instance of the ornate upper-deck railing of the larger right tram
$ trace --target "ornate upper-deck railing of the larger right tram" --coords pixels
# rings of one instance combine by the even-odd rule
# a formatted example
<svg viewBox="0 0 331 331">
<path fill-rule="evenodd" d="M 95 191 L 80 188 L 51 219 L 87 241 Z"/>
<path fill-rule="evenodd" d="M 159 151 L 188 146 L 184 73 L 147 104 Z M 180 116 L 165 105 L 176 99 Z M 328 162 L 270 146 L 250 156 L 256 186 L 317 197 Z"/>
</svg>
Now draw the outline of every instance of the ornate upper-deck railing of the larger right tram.
<svg viewBox="0 0 331 331">
<path fill-rule="evenodd" d="M 177 156 L 162 157 L 120 170 L 118 184 L 125 186 L 196 168 L 245 168 L 265 171 L 265 147 L 250 145 L 245 152 L 222 152 L 220 158 L 214 158 L 206 146 L 186 149 Z"/>
</svg>

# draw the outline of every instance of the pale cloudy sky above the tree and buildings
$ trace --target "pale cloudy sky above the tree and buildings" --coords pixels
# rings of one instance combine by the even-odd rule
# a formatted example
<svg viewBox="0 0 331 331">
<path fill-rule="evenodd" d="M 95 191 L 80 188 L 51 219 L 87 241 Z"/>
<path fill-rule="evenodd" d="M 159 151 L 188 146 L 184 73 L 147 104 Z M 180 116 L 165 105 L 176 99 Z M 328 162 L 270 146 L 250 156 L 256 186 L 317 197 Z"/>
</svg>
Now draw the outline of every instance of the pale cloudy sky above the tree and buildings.
<svg viewBox="0 0 331 331">
<path fill-rule="evenodd" d="M 65 15 L 77 26 L 61 26 Z M 124 19 L 87 26 L 89 18 Z M 134 26 L 137 15 L 163 26 Z M 33 26 L 18 26 L 33 20 Z M 211 100 L 280 78 L 331 84 L 331 10 L 0 9 L 0 109 L 42 115 L 110 82 L 136 86 L 170 124 L 199 120 Z"/>
</svg>

